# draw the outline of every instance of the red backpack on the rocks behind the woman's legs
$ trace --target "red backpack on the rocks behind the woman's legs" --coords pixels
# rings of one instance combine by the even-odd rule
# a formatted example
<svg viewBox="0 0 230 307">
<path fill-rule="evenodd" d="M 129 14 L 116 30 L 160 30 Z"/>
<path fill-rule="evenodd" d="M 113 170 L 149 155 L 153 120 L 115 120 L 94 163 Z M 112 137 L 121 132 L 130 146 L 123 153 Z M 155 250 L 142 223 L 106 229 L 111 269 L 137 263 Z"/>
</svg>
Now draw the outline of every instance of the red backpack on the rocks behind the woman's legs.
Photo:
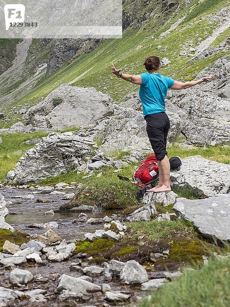
<svg viewBox="0 0 230 307">
<path fill-rule="evenodd" d="M 134 171 L 133 180 L 137 183 L 149 184 L 158 177 L 158 160 L 155 153 L 151 153 Z"/>
</svg>

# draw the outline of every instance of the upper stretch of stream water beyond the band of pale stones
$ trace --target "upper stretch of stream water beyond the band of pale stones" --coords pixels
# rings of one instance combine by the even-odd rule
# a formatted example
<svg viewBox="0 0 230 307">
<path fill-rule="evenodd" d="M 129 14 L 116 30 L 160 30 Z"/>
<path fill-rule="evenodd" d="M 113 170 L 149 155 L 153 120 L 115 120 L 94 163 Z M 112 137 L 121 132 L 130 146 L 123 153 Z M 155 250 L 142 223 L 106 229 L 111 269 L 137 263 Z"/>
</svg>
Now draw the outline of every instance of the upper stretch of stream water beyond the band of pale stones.
<svg viewBox="0 0 230 307">
<path fill-rule="evenodd" d="M 80 212 L 65 212 L 59 210 L 62 204 L 70 202 L 64 200 L 64 194 L 52 195 L 34 193 L 34 190 L 28 189 L 14 189 L 14 188 L 0 188 L 0 193 L 5 197 L 5 201 L 11 201 L 13 205 L 7 205 L 9 214 L 6 217 L 6 222 L 12 225 L 16 230 L 33 233 L 44 233 L 46 230 L 38 228 L 29 228 L 28 225 L 40 224 L 56 221 L 59 228 L 53 228 L 53 231 L 58 233 L 63 239 L 80 239 L 86 232 L 95 232 L 96 229 L 102 228 L 102 225 L 91 225 L 85 223 L 73 224 L 72 222 L 78 217 Z M 66 193 L 74 192 L 68 190 Z M 34 195 L 34 199 L 25 200 L 21 199 L 26 194 Z M 15 198 L 18 196 L 18 198 Z M 52 203 L 38 203 L 37 199 L 45 199 L 53 201 Z M 54 215 L 44 215 L 45 211 L 53 209 Z M 86 212 L 87 217 L 104 217 L 106 215 L 119 214 L 119 210 L 106 210 L 98 212 Z"/>
</svg>

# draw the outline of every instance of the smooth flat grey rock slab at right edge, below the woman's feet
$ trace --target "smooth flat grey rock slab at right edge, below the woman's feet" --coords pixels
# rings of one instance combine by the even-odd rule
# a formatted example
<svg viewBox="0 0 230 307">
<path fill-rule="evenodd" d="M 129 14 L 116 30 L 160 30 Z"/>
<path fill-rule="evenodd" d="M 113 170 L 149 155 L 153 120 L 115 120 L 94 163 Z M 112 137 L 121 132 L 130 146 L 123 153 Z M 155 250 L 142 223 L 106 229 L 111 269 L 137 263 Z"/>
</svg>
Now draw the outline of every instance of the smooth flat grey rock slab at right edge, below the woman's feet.
<svg viewBox="0 0 230 307">
<path fill-rule="evenodd" d="M 173 209 L 178 216 L 192 222 L 203 236 L 230 242 L 230 194 L 202 200 L 179 198 Z"/>
</svg>

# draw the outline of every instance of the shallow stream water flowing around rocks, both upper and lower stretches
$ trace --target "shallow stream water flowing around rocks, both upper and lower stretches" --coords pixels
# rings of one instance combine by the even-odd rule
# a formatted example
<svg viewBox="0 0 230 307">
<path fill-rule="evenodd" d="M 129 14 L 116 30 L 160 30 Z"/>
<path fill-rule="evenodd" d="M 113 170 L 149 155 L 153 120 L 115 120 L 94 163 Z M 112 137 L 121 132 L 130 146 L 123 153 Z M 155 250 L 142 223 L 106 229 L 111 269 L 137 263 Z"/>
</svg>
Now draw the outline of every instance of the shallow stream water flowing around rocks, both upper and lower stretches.
<svg viewBox="0 0 230 307">
<path fill-rule="evenodd" d="M 74 190 L 64 190 L 65 194 L 74 192 Z M 59 207 L 69 202 L 69 200 L 64 200 L 64 194 L 41 194 L 38 193 L 38 190 L 28 190 L 28 189 L 19 189 L 19 188 L 0 188 L 0 193 L 4 195 L 6 202 L 12 202 L 13 204 L 8 204 L 7 208 L 9 209 L 9 214 L 6 216 L 6 222 L 14 227 L 15 230 L 26 232 L 28 234 L 42 234 L 48 229 L 38 229 L 38 228 L 29 228 L 28 225 L 34 223 L 48 223 L 56 221 L 59 228 L 53 228 L 52 230 L 59 234 L 63 239 L 82 239 L 84 233 L 86 232 L 95 232 L 96 229 L 102 229 L 103 225 L 92 225 L 86 223 L 77 223 L 73 224 L 73 220 L 78 217 L 80 212 L 62 212 L 59 211 Z M 34 195 L 34 199 L 22 199 L 26 194 Z M 18 196 L 18 197 L 17 197 Z M 53 202 L 50 203 L 39 203 L 36 202 L 37 199 L 45 199 Z M 45 211 L 53 209 L 55 211 L 54 215 L 44 215 Z M 111 216 L 116 213 L 119 214 L 119 210 L 106 210 L 99 212 L 86 212 L 87 217 L 104 217 L 106 215 Z M 44 266 L 38 266 L 31 262 L 28 262 L 26 265 L 20 266 L 20 269 L 29 270 L 34 275 L 34 280 L 30 282 L 27 286 L 14 287 L 9 283 L 9 274 L 10 269 L 3 268 L 0 266 L 0 286 L 6 287 L 18 291 L 26 291 L 33 289 L 44 289 L 46 292 L 42 293 L 47 299 L 46 302 L 31 302 L 28 299 L 20 300 L 18 303 L 11 302 L 6 304 L 6 306 L 90 306 L 90 307 L 107 307 L 112 305 L 124 305 L 124 302 L 110 302 L 104 300 L 104 295 L 101 292 L 96 292 L 94 294 L 89 294 L 84 296 L 84 300 L 70 299 L 65 301 L 58 301 L 57 296 L 59 293 L 56 293 L 56 288 L 58 285 L 58 278 L 62 274 L 71 275 L 73 277 L 82 276 L 82 273 L 79 271 L 70 271 L 70 266 L 72 262 L 78 261 L 76 256 L 71 257 L 68 260 L 62 262 L 48 262 Z M 83 260 L 87 261 L 87 260 Z M 90 266 L 87 262 L 82 262 L 82 267 Z M 149 272 L 151 274 L 151 272 Z M 93 277 L 93 281 L 96 284 L 105 283 L 105 279 L 102 276 Z M 120 283 L 119 279 L 112 278 L 112 281 L 109 282 L 112 291 L 122 291 L 128 294 L 131 294 L 129 302 L 136 302 L 140 296 L 144 296 L 145 292 L 140 290 L 140 287 L 136 286 L 124 286 Z"/>
</svg>

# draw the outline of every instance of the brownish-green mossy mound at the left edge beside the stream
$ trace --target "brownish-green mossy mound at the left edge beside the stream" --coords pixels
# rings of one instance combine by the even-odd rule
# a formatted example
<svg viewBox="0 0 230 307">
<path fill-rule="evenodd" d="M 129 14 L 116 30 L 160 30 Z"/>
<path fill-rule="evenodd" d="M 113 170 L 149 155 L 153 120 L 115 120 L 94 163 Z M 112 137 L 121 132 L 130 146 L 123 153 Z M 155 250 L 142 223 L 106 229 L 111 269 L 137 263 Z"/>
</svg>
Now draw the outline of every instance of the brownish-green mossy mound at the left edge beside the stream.
<svg viewBox="0 0 230 307">
<path fill-rule="evenodd" d="M 0 229 L 0 252 L 3 250 L 3 245 L 6 240 L 16 245 L 29 242 L 29 234 L 19 231 L 10 231 L 7 229 Z"/>
</svg>

